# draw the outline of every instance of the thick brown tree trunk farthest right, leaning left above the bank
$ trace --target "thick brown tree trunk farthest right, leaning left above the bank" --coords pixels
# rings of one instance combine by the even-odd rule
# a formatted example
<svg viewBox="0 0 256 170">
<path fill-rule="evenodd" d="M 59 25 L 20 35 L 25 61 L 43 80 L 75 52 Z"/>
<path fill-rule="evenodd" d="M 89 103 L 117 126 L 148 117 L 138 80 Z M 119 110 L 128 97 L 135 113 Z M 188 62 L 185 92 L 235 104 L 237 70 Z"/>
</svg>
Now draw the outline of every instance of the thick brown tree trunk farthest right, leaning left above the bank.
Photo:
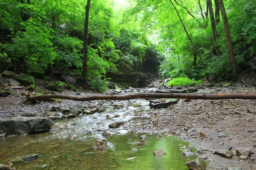
<svg viewBox="0 0 256 170">
<path fill-rule="evenodd" d="M 229 54 L 229 58 L 230 58 L 230 64 L 232 67 L 234 80 L 236 81 L 237 77 L 238 77 L 238 72 L 237 72 L 237 65 L 236 65 L 236 59 L 235 59 L 235 55 L 234 55 L 234 51 L 233 51 L 232 41 L 231 41 L 231 37 L 230 37 L 230 30 L 229 30 L 229 25 L 228 25 L 228 21 L 227 21 L 227 15 L 226 15 L 226 11 L 224 8 L 223 0 L 218 0 L 218 2 L 219 2 L 220 10 L 221 10 L 222 20 L 224 23 L 225 37 L 227 40 L 227 48 L 228 48 L 228 54 Z"/>
</svg>

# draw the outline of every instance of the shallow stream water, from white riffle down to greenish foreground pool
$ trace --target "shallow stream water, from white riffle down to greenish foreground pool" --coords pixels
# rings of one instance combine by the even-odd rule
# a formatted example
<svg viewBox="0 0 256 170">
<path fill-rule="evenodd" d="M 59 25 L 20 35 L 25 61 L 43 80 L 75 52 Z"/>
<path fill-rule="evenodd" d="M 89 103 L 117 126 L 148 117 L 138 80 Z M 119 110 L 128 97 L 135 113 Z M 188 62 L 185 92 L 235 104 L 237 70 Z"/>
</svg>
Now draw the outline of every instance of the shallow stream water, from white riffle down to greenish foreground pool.
<svg viewBox="0 0 256 170">
<path fill-rule="evenodd" d="M 75 119 L 55 121 L 66 124 L 65 130 L 14 136 L 0 139 L 0 163 L 7 164 L 17 156 L 37 153 L 38 159 L 13 163 L 16 170 L 188 170 L 185 162 L 196 156 L 182 157 L 189 143 L 173 136 L 157 137 L 153 134 L 133 133 L 118 128 L 108 130 L 111 136 L 102 136 L 102 130 L 117 120 L 128 121 L 136 116 L 136 110 L 149 109 L 148 102 L 141 100 L 143 107 L 108 107 L 107 113 L 95 113 Z M 106 119 L 119 114 L 120 117 Z M 144 118 L 147 119 L 147 118 Z M 74 125 L 74 123 L 76 125 Z M 88 133 L 91 131 L 92 133 Z M 136 145 L 140 136 L 149 138 L 144 146 Z M 96 139 L 107 139 L 108 147 L 92 148 Z M 163 149 L 165 156 L 154 156 Z"/>
</svg>

